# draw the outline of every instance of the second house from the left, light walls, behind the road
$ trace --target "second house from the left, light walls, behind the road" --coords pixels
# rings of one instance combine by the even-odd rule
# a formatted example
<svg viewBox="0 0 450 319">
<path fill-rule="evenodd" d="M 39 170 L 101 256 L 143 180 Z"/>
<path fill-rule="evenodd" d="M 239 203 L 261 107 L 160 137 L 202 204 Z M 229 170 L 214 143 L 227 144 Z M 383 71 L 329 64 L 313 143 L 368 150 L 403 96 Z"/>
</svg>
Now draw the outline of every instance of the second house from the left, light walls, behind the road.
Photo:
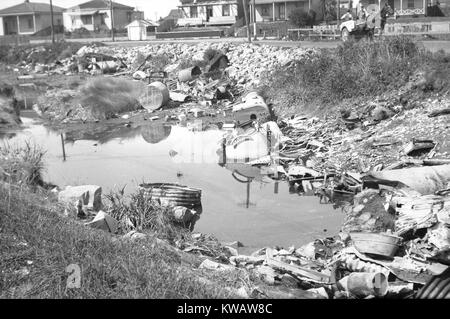
<svg viewBox="0 0 450 319">
<path fill-rule="evenodd" d="M 137 11 L 118 2 L 113 4 L 114 29 L 124 29 L 134 20 L 144 18 L 144 12 Z M 68 31 L 85 28 L 89 31 L 111 30 L 111 8 L 109 0 L 92 0 L 66 9 L 63 13 L 64 27 Z"/>
</svg>

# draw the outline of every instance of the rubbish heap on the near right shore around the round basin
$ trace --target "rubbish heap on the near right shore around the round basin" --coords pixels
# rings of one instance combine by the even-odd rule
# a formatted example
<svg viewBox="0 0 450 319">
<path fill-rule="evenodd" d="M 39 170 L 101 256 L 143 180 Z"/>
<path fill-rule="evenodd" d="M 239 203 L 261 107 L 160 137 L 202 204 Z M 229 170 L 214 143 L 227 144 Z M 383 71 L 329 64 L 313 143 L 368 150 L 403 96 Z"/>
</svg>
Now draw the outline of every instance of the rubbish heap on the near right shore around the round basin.
<svg viewBox="0 0 450 319">
<path fill-rule="evenodd" d="M 180 248 L 207 256 L 200 268 L 243 268 L 267 285 L 303 289 L 327 299 L 417 298 L 419 291 L 423 298 L 450 298 L 449 195 L 450 190 L 415 196 L 364 190 L 337 236 L 299 248 L 267 247 L 241 255 L 242 244 L 235 242 L 212 256 L 202 246 L 206 237 L 201 234 L 192 235 L 198 246 Z M 440 285 L 427 293 L 421 290 L 439 276 L 444 276 Z"/>
</svg>

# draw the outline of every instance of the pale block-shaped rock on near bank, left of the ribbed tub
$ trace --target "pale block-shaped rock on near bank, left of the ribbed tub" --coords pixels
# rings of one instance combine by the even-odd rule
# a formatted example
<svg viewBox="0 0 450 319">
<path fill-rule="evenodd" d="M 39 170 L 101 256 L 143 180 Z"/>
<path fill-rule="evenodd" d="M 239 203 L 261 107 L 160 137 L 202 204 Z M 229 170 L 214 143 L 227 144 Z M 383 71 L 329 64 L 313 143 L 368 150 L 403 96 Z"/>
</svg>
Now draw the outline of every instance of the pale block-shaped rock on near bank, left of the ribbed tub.
<svg viewBox="0 0 450 319">
<path fill-rule="evenodd" d="M 78 203 L 80 200 L 83 206 L 93 211 L 102 208 L 102 188 L 96 185 L 67 186 L 59 192 L 58 201 L 68 204 Z"/>
</svg>

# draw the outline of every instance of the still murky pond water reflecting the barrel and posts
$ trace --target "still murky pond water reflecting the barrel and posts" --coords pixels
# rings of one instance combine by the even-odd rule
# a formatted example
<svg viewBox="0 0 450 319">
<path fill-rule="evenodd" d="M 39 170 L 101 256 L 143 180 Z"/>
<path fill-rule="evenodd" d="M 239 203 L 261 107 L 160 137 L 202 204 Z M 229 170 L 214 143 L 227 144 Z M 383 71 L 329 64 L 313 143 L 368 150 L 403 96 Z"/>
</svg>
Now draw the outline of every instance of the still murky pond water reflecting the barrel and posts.
<svg viewBox="0 0 450 319">
<path fill-rule="evenodd" d="M 195 231 L 214 234 L 221 241 L 239 240 L 249 250 L 299 246 L 335 235 L 343 220 L 341 210 L 320 204 L 317 197 L 291 194 L 287 183 L 275 183 L 256 167 L 219 165 L 223 131 L 217 129 L 192 132 L 175 126 L 161 132 L 151 124 L 116 125 L 100 134 L 91 126 L 83 133 L 63 134 L 64 160 L 59 132 L 29 118 L 23 121 L 23 130 L 0 138 L 9 143 L 31 140 L 47 150 L 46 181 L 60 187 L 96 184 L 104 193 L 125 184 L 132 192 L 142 182 L 200 188 L 203 213 Z M 252 182 L 243 183 L 246 177 Z"/>
</svg>

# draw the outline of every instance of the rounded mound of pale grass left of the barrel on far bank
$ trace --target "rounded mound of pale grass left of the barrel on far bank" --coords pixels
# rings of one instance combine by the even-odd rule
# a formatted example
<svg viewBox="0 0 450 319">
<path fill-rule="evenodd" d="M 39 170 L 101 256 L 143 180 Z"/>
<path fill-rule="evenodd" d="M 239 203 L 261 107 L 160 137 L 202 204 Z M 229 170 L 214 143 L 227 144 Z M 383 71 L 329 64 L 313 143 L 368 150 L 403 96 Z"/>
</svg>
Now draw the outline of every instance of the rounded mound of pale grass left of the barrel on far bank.
<svg viewBox="0 0 450 319">
<path fill-rule="evenodd" d="M 115 114 L 140 109 L 136 97 L 140 96 L 141 90 L 141 86 L 133 81 L 101 77 L 81 88 L 80 102 L 94 117 L 108 119 Z"/>
</svg>

